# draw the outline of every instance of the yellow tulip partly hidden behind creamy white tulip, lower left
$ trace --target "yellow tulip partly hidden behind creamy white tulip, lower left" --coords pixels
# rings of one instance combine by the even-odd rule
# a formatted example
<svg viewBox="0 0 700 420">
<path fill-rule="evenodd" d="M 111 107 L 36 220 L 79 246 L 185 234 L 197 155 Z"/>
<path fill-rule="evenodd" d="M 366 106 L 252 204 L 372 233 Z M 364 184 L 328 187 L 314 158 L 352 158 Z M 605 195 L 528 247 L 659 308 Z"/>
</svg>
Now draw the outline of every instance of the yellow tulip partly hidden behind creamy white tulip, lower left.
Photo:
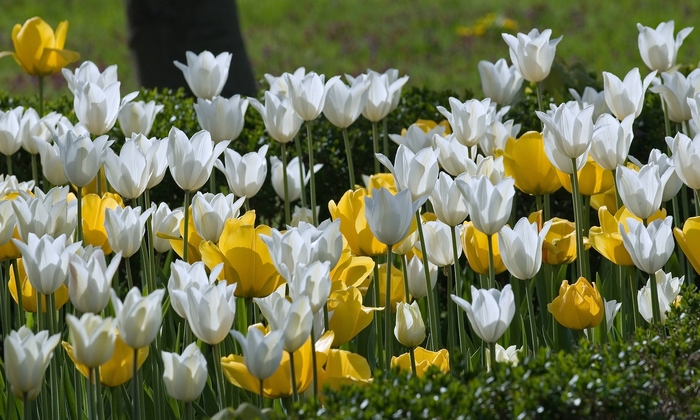
<svg viewBox="0 0 700 420">
<path fill-rule="evenodd" d="M 127 346 L 126 343 L 119 338 L 118 330 L 115 329 L 115 333 L 117 334 L 117 339 L 114 342 L 114 353 L 107 363 L 100 366 L 100 383 L 109 387 L 125 384 L 126 381 L 134 376 L 134 349 Z M 75 363 L 75 368 L 87 378 L 87 366 L 76 363 L 75 359 L 73 359 L 73 346 L 66 341 L 62 344 L 66 353 L 68 353 L 68 357 Z M 146 361 L 149 351 L 148 346 L 139 349 L 137 369 L 141 368 L 143 362 Z"/>
</svg>

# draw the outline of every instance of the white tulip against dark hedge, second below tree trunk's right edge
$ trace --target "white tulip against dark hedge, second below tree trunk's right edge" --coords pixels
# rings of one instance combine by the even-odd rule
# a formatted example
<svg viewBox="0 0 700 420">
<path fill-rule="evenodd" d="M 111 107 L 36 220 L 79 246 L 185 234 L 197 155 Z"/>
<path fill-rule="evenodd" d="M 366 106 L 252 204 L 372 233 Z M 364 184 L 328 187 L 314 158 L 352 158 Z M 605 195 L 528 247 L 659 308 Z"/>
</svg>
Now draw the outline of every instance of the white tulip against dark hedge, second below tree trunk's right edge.
<svg viewBox="0 0 700 420">
<path fill-rule="evenodd" d="M 226 166 L 221 159 L 214 162 L 214 167 L 226 176 L 229 190 L 238 197 L 250 200 L 262 188 L 267 176 L 267 161 L 265 160 L 267 148 L 266 144 L 257 152 L 246 153 L 243 156 L 235 150 L 226 149 L 224 150 Z"/>
</svg>

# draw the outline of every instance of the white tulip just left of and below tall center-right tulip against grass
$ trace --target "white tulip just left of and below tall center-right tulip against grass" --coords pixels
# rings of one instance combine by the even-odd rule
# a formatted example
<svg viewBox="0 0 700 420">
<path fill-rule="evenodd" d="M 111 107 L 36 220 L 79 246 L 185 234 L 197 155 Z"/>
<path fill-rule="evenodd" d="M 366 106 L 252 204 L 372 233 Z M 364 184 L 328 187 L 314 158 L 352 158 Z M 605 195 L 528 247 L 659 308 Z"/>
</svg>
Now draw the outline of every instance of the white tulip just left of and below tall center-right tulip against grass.
<svg viewBox="0 0 700 420">
<path fill-rule="evenodd" d="M 523 85 L 523 76 L 517 67 L 515 65 L 508 67 L 504 58 L 499 59 L 495 64 L 484 60 L 479 61 L 479 75 L 484 96 L 501 106 L 513 101 Z"/>
</svg>

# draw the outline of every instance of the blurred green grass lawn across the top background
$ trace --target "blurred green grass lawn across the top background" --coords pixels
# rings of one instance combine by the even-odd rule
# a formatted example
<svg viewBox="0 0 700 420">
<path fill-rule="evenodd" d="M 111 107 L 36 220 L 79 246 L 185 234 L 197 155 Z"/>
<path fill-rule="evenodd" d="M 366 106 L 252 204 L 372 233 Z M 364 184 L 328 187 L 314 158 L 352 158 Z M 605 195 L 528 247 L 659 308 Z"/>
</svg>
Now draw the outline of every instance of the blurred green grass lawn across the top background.
<svg viewBox="0 0 700 420">
<path fill-rule="evenodd" d="M 9 2 L 9 3 L 8 3 Z M 137 88 L 126 45 L 126 21 L 121 1 L 5 0 L 0 14 L 0 50 L 11 49 L 12 26 L 34 15 L 52 26 L 70 21 L 67 48 L 101 67 L 116 63 L 122 92 Z M 671 3 L 674 3 L 671 5 Z M 366 68 L 395 67 L 411 76 L 409 85 L 433 89 L 471 89 L 480 94 L 477 63 L 508 57 L 502 29 L 465 37 L 459 28 L 473 27 L 495 13 L 513 19 L 517 31 L 551 28 L 563 35 L 557 57 L 581 62 L 591 72 L 624 75 L 644 67 L 637 48 L 636 23 L 656 26 L 674 19 L 676 30 L 692 26 L 700 3 L 677 0 L 483 1 L 455 0 L 238 0 L 254 71 L 281 74 L 299 66 L 335 74 L 357 74 Z M 680 50 L 680 63 L 700 58 L 700 28 Z M 235 64 L 234 64 L 235 65 Z M 644 70 L 643 70 L 644 72 Z M 51 78 L 55 89 L 62 77 Z M 26 93 L 35 82 L 24 76 L 11 58 L 0 60 L 0 89 Z M 65 90 L 64 90 L 65 91 Z"/>
</svg>

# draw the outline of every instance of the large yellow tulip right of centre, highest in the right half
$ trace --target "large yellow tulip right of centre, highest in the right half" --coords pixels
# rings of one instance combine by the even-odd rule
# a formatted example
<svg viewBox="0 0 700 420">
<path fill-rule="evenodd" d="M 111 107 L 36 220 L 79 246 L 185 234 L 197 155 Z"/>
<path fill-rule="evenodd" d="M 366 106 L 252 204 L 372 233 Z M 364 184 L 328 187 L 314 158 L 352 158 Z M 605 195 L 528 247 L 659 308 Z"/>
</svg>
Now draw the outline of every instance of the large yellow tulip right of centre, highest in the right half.
<svg viewBox="0 0 700 420">
<path fill-rule="evenodd" d="M 517 140 L 509 138 L 502 153 L 506 176 L 515 179 L 515 186 L 520 191 L 542 195 L 561 188 L 556 168 L 544 152 L 541 133 L 528 131 Z"/>
</svg>

